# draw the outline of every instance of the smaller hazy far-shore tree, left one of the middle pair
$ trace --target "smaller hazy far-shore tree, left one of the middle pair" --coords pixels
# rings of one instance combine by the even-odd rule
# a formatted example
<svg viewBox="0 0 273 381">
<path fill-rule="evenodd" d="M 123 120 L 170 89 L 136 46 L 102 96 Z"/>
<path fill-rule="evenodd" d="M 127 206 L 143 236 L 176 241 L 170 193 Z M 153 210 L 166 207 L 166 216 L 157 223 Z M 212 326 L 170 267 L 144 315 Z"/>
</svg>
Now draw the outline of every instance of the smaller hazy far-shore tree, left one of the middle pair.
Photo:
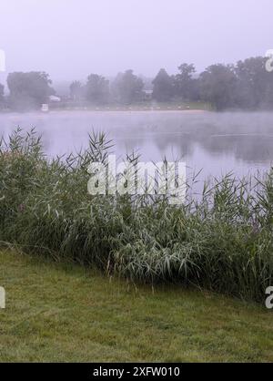
<svg viewBox="0 0 273 381">
<path fill-rule="evenodd" d="M 109 101 L 109 81 L 97 74 L 91 74 L 86 83 L 86 99 L 96 105 Z"/>
</svg>

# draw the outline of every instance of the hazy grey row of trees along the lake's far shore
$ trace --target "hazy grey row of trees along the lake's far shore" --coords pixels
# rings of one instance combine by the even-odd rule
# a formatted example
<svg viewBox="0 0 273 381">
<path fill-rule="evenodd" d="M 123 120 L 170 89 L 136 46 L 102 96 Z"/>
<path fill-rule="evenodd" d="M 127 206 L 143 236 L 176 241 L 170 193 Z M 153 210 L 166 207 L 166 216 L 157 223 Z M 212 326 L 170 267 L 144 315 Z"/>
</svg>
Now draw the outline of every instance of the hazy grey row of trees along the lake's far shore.
<svg viewBox="0 0 273 381">
<path fill-rule="evenodd" d="M 119 73 L 112 81 L 90 74 L 86 83 L 70 85 L 70 101 L 92 105 L 132 105 L 139 102 L 207 102 L 217 110 L 272 109 L 273 73 L 266 70 L 266 57 L 251 57 L 233 65 L 216 64 L 197 75 L 193 64 L 182 64 L 175 75 L 162 68 L 145 90 L 143 78 L 133 70 Z M 7 77 L 9 95 L 0 84 L 0 105 L 11 109 L 40 108 L 55 95 L 45 72 L 11 73 Z M 1 106 L 0 106 L 1 107 Z"/>
</svg>

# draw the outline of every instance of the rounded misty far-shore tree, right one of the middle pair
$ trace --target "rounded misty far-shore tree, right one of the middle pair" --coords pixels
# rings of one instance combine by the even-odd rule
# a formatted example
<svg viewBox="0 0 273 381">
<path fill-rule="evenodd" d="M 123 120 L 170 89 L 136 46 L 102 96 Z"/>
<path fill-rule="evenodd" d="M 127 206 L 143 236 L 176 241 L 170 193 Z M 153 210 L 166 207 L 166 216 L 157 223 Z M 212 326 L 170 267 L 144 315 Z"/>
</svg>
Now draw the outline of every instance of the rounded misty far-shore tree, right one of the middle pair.
<svg viewBox="0 0 273 381">
<path fill-rule="evenodd" d="M 119 73 L 112 84 L 112 97 L 119 103 L 130 105 L 144 98 L 144 82 L 133 70 Z"/>
</svg>

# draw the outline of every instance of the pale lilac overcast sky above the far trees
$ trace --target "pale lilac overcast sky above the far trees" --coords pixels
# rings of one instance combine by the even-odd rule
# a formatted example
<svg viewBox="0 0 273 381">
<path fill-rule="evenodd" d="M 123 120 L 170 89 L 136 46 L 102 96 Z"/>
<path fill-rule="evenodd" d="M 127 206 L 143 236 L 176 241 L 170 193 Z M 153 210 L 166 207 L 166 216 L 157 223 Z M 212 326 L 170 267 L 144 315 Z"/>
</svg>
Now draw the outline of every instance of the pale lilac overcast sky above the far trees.
<svg viewBox="0 0 273 381">
<path fill-rule="evenodd" d="M 0 0 L 0 49 L 8 72 L 55 80 L 126 68 L 155 76 L 183 62 L 200 71 L 264 56 L 272 17 L 272 0 Z"/>
</svg>

